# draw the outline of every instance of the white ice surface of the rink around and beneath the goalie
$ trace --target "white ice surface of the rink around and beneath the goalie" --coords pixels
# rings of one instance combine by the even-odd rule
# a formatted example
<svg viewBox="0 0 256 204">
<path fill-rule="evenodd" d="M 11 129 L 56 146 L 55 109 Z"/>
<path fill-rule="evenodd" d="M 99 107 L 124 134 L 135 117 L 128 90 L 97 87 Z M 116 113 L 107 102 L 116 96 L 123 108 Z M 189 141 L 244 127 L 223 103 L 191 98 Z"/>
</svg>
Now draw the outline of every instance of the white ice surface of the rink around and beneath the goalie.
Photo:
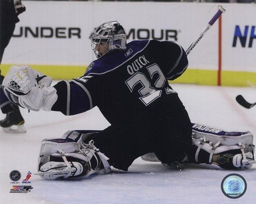
<svg viewBox="0 0 256 204">
<path fill-rule="evenodd" d="M 254 103 L 254 88 L 195 84 L 171 86 L 179 93 L 192 122 L 228 131 L 249 130 L 256 135 L 256 106 L 245 109 L 235 100 L 242 94 L 247 101 Z M 61 137 L 67 130 L 101 130 L 109 123 L 97 108 L 76 116 L 43 111 L 28 113 L 25 109 L 21 112 L 26 120 L 27 133 L 8 134 L 0 130 L 1 203 L 255 203 L 256 165 L 248 171 L 224 171 L 213 169 L 211 165 L 207 165 L 207 169 L 204 165 L 190 165 L 180 171 L 138 158 L 129 172 L 95 175 L 76 181 L 43 180 L 34 173 L 44 138 Z M 3 117 L 1 113 L 0 118 Z M 11 183 L 9 177 L 14 169 L 21 172 L 20 184 L 28 171 L 33 173 L 29 180 L 33 187 L 30 192 L 10 193 L 12 185 L 18 185 Z M 221 191 L 221 181 L 230 173 L 242 175 L 247 182 L 247 190 L 241 198 L 227 198 Z"/>
</svg>

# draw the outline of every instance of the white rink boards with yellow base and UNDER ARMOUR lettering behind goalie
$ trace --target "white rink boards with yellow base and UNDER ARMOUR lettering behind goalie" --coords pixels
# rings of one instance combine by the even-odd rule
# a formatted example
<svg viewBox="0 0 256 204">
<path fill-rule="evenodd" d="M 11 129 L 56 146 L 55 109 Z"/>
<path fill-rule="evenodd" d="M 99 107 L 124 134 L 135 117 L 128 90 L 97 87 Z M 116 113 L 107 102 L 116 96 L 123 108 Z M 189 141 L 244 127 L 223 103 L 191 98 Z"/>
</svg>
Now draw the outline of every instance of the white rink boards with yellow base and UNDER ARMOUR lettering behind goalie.
<svg viewBox="0 0 256 204">
<path fill-rule="evenodd" d="M 189 67 L 175 83 L 254 86 L 255 4 L 201 2 L 22 1 L 27 11 L 5 50 L 1 70 L 30 65 L 53 79 L 84 74 L 95 60 L 89 36 L 118 20 L 127 41 L 173 40 L 186 50 L 222 5 L 222 14 L 189 54 Z"/>
</svg>

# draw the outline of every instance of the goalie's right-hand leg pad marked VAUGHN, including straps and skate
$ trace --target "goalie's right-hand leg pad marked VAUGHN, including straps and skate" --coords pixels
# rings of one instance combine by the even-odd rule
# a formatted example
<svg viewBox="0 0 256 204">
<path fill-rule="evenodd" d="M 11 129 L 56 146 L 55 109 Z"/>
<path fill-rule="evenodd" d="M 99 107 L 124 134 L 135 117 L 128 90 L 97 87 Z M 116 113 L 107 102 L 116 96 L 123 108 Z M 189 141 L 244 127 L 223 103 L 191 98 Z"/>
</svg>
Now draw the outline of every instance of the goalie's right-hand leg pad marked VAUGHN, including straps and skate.
<svg viewBox="0 0 256 204">
<path fill-rule="evenodd" d="M 202 124 L 191 125 L 193 148 L 185 159 L 177 162 L 215 164 L 225 169 L 249 169 L 256 163 L 251 132 L 228 132 Z M 153 152 L 141 158 L 161 162 Z"/>
</svg>

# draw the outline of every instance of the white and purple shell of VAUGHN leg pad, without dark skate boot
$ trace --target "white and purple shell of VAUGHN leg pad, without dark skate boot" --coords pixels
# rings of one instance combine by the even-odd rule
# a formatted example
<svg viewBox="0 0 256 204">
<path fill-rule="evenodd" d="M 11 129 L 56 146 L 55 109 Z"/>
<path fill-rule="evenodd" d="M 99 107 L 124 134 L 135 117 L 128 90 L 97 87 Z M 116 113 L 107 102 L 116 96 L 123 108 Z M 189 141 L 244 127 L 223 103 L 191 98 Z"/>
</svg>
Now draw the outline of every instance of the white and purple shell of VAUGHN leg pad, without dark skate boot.
<svg viewBox="0 0 256 204">
<path fill-rule="evenodd" d="M 237 168 L 250 168 L 254 161 L 253 134 L 249 131 L 227 132 L 226 130 L 213 128 L 211 126 L 192 123 L 192 141 L 197 146 L 195 160 L 201 149 L 209 152 L 209 164 L 212 163 L 214 154 L 229 150 L 241 150 L 233 158 L 233 165 Z M 238 161 L 238 162 L 237 162 Z"/>
</svg>

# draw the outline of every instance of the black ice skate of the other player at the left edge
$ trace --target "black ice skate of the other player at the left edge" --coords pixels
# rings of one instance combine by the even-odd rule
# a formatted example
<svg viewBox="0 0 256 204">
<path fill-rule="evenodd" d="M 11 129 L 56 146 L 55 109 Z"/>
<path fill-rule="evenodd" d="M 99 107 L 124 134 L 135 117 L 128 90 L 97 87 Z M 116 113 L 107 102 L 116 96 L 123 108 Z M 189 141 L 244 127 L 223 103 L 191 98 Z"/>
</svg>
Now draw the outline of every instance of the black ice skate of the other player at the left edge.
<svg viewBox="0 0 256 204">
<path fill-rule="evenodd" d="M 6 114 L 6 117 L 0 121 L 0 126 L 4 132 L 9 133 L 25 133 L 24 119 L 20 111 L 14 110 Z"/>
</svg>

